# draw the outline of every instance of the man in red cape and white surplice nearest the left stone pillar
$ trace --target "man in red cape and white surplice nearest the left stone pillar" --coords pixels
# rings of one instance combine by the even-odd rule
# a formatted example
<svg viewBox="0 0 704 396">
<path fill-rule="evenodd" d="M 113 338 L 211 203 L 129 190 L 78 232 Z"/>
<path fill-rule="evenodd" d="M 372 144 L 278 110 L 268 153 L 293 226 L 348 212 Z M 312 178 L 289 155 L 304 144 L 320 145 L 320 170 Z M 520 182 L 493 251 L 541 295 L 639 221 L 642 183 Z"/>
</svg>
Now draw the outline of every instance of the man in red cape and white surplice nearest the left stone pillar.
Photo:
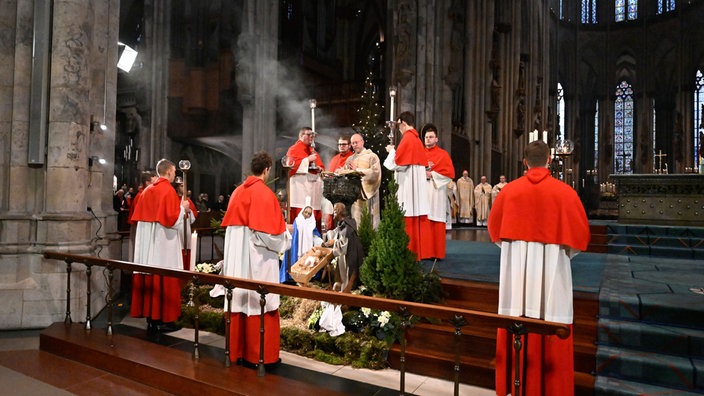
<svg viewBox="0 0 704 396">
<path fill-rule="evenodd" d="M 152 267 L 183 269 L 181 239 L 183 218 L 190 212 L 171 183 L 176 177 L 173 162 L 157 163 L 159 178 L 139 195 L 132 219 L 137 222 L 134 262 Z M 181 283 L 168 276 L 135 273 L 130 315 L 147 318 L 149 331 L 173 331 L 181 315 Z"/>
</svg>

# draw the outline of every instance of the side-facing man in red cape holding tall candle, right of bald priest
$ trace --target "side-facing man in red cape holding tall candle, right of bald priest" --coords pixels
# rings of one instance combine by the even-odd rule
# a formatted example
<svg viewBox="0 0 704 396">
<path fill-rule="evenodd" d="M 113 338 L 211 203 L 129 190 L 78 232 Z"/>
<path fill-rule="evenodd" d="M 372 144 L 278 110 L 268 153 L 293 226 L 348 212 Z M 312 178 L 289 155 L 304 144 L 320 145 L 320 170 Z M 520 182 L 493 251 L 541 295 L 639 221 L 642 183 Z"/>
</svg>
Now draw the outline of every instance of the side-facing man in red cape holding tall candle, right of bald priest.
<svg viewBox="0 0 704 396">
<path fill-rule="evenodd" d="M 394 145 L 386 146 L 389 155 L 384 160 L 384 166 L 394 171 L 398 192 L 396 198 L 404 210 L 406 233 L 410 241 L 408 249 L 416 255 L 417 260 L 423 257 L 421 235 L 429 231 L 428 213 L 428 183 L 425 180 L 425 168 L 428 159 L 425 156 L 423 142 L 415 130 L 415 117 L 408 111 L 398 116 L 398 129 L 403 134 L 398 149 Z"/>
</svg>

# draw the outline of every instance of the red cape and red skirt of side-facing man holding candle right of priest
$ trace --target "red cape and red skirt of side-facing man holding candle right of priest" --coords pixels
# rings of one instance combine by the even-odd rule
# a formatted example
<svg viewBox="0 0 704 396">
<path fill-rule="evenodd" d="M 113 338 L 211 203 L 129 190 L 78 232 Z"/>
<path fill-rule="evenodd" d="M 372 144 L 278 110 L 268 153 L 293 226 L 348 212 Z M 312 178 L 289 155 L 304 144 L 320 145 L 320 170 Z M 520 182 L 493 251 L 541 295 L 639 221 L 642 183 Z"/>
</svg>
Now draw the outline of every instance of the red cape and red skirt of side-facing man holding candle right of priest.
<svg viewBox="0 0 704 396">
<path fill-rule="evenodd" d="M 428 166 L 425 147 L 418 137 L 418 131 L 413 128 L 406 130 L 398 144 L 394 159 L 396 165 L 399 166 L 420 165 L 424 168 Z M 427 197 L 419 197 L 418 199 L 427 199 Z M 425 256 L 421 236 L 424 232 L 429 231 L 428 216 L 405 216 L 404 221 L 406 222 L 406 233 L 410 239 L 408 249 L 415 253 L 416 258 L 420 260 Z"/>
</svg>

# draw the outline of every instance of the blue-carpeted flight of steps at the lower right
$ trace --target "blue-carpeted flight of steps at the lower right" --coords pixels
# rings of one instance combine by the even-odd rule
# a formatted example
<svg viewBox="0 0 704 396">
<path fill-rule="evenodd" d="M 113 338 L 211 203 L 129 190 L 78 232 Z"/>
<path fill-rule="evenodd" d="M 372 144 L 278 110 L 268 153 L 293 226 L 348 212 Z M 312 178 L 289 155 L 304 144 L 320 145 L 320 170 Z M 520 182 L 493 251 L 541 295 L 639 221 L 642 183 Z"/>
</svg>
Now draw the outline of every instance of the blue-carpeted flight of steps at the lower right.
<svg viewBox="0 0 704 396">
<path fill-rule="evenodd" d="M 610 228 L 595 394 L 704 394 L 704 229 Z"/>
</svg>

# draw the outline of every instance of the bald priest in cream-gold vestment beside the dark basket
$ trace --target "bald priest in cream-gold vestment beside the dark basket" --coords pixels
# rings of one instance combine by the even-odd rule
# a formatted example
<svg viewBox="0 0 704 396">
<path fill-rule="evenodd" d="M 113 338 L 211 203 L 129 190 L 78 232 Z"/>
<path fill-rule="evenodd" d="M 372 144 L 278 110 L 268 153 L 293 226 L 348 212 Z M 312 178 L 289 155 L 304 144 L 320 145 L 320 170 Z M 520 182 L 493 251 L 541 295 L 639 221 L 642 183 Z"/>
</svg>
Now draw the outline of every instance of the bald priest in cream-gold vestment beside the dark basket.
<svg viewBox="0 0 704 396">
<path fill-rule="evenodd" d="M 362 219 L 363 206 L 367 205 L 367 210 L 372 218 L 372 227 L 376 230 L 379 227 L 381 200 L 379 197 L 379 186 L 381 186 L 381 162 L 379 157 L 371 150 L 364 148 L 364 138 L 355 133 L 350 139 L 352 143 L 352 156 L 347 159 L 345 169 L 355 170 L 361 173 L 362 190 L 364 196 L 352 204 L 352 218 L 359 224 Z"/>
</svg>

